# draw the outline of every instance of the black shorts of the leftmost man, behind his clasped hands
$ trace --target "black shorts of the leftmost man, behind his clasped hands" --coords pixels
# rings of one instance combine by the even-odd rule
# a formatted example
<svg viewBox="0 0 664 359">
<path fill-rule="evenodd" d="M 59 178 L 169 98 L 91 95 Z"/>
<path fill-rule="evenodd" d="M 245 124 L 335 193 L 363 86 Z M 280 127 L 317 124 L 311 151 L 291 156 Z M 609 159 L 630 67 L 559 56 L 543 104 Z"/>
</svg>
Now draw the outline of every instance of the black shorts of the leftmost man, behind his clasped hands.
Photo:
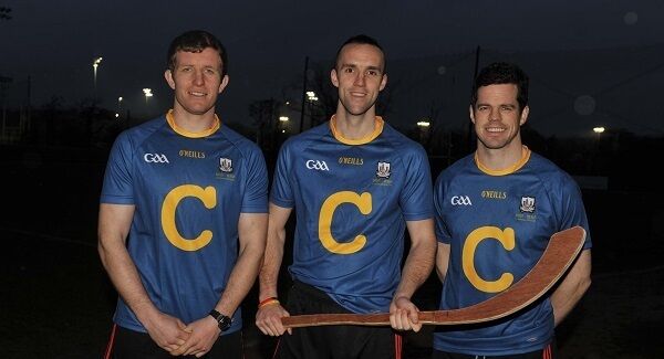
<svg viewBox="0 0 664 359">
<path fill-rule="evenodd" d="M 104 359 L 173 359 L 168 351 L 159 348 L 147 332 L 114 325 Z M 178 357 L 181 358 L 181 357 Z M 196 358 L 187 356 L 186 358 Z M 242 359 L 242 331 L 220 336 L 203 358 Z"/>
</svg>

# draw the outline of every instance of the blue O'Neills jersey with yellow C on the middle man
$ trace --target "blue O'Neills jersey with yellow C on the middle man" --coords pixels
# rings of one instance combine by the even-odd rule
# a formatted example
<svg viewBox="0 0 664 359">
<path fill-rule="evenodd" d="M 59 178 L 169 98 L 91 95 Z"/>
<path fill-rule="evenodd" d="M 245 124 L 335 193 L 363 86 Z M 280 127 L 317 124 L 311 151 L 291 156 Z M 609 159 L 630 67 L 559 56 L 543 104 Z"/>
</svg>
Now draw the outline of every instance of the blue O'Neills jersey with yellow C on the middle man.
<svg viewBox="0 0 664 359">
<path fill-rule="evenodd" d="M 405 221 L 434 215 L 422 146 L 381 117 L 367 138 L 335 118 L 281 147 L 270 200 L 297 213 L 291 276 L 353 313 L 386 312 L 401 279 Z"/>
</svg>

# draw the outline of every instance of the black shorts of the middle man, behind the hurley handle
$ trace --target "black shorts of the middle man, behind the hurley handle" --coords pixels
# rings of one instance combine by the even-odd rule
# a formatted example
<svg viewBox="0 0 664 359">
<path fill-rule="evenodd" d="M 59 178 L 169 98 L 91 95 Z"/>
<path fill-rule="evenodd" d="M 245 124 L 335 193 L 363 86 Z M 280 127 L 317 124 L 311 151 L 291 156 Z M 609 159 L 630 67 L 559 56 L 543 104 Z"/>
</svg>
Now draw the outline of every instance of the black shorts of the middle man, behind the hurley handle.
<svg viewBox="0 0 664 359">
<path fill-rule="evenodd" d="M 324 292 L 294 282 L 286 308 L 291 315 L 351 313 Z M 321 326 L 293 328 L 281 336 L 274 359 L 398 359 L 402 338 L 391 327 Z"/>
</svg>

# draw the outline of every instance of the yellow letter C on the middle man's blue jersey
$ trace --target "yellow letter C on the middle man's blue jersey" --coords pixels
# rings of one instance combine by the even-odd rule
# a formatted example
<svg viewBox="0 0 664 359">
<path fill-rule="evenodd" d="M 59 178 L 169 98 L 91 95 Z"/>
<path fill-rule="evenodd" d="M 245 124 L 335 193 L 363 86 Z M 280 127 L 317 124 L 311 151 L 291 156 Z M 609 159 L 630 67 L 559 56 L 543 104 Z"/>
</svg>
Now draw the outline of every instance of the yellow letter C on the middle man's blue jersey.
<svg viewBox="0 0 664 359">
<path fill-rule="evenodd" d="M 371 193 L 364 192 L 357 194 L 352 191 L 336 192 L 328 197 L 321 207 L 321 213 L 319 215 L 319 239 L 323 243 L 323 246 L 332 253 L 352 254 L 362 250 L 364 244 L 366 244 L 366 236 L 360 234 L 349 243 L 339 243 L 332 236 L 332 217 L 334 215 L 336 208 L 342 203 L 353 203 L 362 214 L 369 214 L 372 209 Z"/>
</svg>

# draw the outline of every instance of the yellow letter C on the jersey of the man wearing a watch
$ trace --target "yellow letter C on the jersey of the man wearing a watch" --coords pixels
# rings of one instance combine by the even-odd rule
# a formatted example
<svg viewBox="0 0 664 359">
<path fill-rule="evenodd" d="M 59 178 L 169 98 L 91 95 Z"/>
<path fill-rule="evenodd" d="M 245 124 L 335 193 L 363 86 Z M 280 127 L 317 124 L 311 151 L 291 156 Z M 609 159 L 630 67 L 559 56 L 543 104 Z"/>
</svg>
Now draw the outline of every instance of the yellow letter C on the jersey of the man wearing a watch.
<svg viewBox="0 0 664 359">
<path fill-rule="evenodd" d="M 217 191 L 214 187 L 206 187 L 204 189 L 194 184 L 183 184 L 174 188 L 164 199 L 164 204 L 162 204 L 162 228 L 164 229 L 166 239 L 176 247 L 191 252 L 208 245 L 212 240 L 212 231 L 204 230 L 194 240 L 187 240 L 180 235 L 175 225 L 175 211 L 179 202 L 186 197 L 197 198 L 203 202 L 205 208 L 211 209 L 217 205 Z"/>
</svg>

